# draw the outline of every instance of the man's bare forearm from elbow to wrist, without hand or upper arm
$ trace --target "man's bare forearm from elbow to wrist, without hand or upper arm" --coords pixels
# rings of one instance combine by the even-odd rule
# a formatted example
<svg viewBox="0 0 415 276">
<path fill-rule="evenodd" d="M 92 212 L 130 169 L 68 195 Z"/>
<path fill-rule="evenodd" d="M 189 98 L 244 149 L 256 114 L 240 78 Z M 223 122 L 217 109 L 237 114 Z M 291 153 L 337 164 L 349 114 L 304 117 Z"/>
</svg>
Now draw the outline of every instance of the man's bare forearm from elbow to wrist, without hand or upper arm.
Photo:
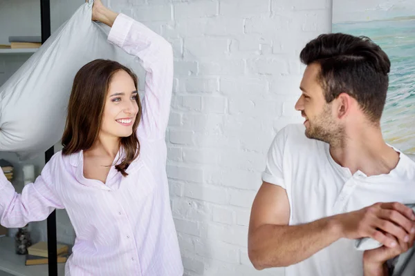
<svg viewBox="0 0 415 276">
<path fill-rule="evenodd" d="M 249 257 L 257 269 L 291 266 L 342 237 L 334 217 L 297 226 L 263 225 L 250 233 Z"/>
</svg>

